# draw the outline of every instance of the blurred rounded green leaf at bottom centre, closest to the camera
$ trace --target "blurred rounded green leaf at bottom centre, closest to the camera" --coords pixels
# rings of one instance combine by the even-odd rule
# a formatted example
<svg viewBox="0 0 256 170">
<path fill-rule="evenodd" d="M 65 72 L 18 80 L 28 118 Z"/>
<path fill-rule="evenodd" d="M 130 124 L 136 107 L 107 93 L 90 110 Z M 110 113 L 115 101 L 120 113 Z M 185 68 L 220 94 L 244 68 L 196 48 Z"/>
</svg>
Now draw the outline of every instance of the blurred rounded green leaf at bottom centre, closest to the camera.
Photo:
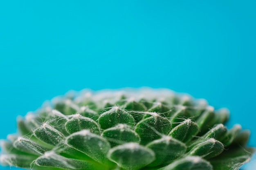
<svg viewBox="0 0 256 170">
<path fill-rule="evenodd" d="M 138 170 L 154 161 L 155 154 L 137 143 L 127 143 L 110 149 L 108 158 L 126 170 Z"/>
</svg>

